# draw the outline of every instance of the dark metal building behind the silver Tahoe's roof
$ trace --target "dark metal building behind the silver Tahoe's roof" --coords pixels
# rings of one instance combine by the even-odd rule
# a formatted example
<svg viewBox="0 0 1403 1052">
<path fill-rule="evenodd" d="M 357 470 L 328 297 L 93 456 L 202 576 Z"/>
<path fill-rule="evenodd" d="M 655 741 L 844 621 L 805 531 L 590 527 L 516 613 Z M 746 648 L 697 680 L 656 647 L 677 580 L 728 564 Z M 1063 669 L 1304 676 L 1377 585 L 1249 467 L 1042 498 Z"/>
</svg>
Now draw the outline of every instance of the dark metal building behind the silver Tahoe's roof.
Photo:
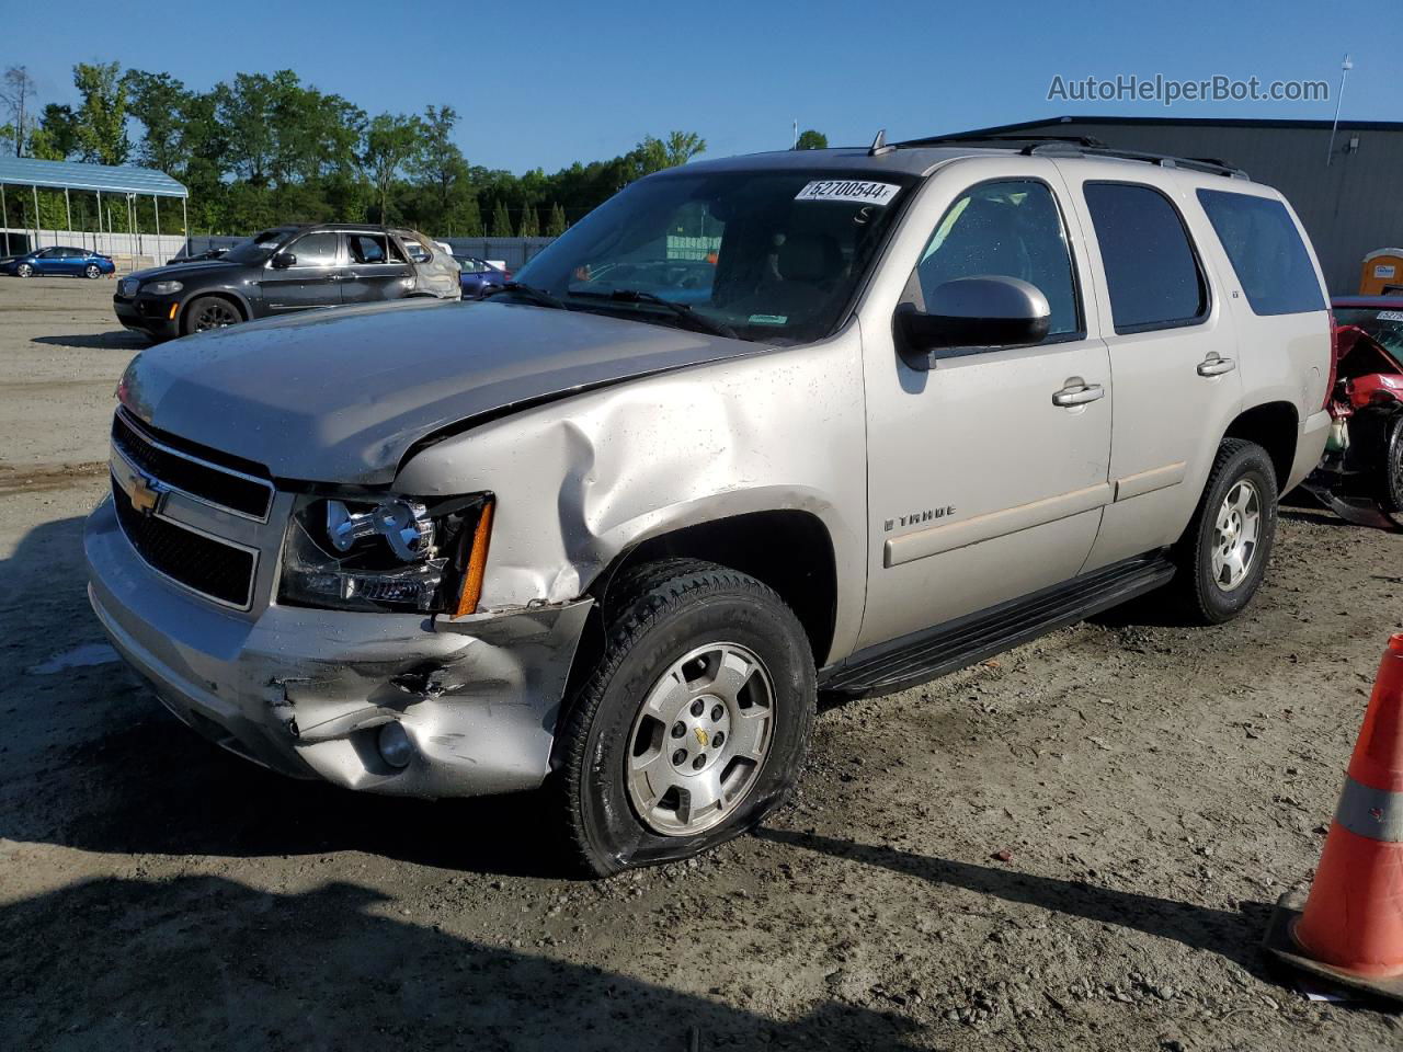
<svg viewBox="0 0 1403 1052">
<path fill-rule="evenodd" d="M 1360 288 L 1365 255 L 1403 244 L 1403 122 L 1341 121 L 1333 146 L 1329 121 L 1055 116 L 960 135 L 1092 136 L 1244 168 L 1287 195 L 1336 295 Z"/>
</svg>

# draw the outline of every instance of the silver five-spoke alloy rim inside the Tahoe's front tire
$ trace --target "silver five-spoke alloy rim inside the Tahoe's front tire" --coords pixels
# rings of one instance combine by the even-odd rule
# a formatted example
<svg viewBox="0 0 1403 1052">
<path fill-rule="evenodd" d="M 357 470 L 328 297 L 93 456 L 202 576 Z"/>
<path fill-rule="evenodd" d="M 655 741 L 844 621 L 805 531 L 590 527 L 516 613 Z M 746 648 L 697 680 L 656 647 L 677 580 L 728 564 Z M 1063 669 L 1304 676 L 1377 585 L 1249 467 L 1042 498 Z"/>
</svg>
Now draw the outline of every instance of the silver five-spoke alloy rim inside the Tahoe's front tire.
<svg viewBox="0 0 1403 1052">
<path fill-rule="evenodd" d="M 629 734 L 629 802 L 652 832 L 692 836 L 755 787 L 774 736 L 774 685 L 753 651 L 697 647 L 654 683 Z"/>
</svg>

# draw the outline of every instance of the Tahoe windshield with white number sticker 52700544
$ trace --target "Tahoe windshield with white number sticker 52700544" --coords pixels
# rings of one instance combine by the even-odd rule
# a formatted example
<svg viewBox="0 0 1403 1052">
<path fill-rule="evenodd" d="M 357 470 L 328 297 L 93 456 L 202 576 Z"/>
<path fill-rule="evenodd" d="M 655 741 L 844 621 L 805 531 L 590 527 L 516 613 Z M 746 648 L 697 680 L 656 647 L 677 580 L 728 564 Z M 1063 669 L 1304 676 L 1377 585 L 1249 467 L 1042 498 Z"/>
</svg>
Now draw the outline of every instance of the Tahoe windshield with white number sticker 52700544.
<svg viewBox="0 0 1403 1052">
<path fill-rule="evenodd" d="M 654 177 L 572 226 L 519 281 L 574 309 L 678 324 L 676 311 L 647 302 L 658 297 L 742 339 L 811 342 L 842 320 L 913 182 L 822 171 Z"/>
</svg>

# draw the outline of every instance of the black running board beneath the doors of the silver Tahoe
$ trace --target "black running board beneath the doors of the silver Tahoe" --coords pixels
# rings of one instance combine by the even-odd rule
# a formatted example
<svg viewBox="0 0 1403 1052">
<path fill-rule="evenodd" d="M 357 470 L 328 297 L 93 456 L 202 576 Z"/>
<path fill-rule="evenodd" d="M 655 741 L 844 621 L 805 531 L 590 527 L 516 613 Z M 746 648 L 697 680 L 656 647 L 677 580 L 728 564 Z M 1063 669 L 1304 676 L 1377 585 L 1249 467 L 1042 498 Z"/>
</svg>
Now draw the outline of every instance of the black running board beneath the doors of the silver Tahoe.
<svg viewBox="0 0 1403 1052">
<path fill-rule="evenodd" d="M 1138 555 L 1041 592 L 859 651 L 819 673 L 818 687 L 849 697 L 890 694 L 972 665 L 1169 582 L 1174 564 Z"/>
</svg>

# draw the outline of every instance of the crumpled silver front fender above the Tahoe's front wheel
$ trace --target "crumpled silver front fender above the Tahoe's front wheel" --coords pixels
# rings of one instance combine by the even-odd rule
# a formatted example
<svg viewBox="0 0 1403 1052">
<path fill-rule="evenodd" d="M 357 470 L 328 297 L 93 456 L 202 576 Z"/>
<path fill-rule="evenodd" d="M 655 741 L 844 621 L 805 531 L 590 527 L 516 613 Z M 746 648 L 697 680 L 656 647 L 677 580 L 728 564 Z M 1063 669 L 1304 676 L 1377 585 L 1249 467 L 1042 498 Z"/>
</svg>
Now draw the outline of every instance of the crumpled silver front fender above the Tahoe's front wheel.
<svg viewBox="0 0 1403 1052">
<path fill-rule="evenodd" d="M 415 454 L 394 488 L 497 494 L 487 609 L 575 599 L 627 547 L 685 526 L 811 512 L 833 544 L 839 655 L 856 638 L 866 591 L 866 473 L 854 323 L 824 344 L 680 369 L 485 424 Z"/>
</svg>

